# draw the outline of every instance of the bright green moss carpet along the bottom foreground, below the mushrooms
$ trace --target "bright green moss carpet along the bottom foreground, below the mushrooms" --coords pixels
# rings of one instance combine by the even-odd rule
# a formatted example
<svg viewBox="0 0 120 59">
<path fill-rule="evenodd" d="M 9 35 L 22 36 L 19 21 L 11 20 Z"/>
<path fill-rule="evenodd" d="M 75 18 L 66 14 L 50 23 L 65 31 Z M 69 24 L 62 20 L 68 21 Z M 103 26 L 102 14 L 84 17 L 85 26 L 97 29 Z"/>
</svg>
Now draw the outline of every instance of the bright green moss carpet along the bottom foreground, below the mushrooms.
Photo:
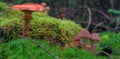
<svg viewBox="0 0 120 59">
<path fill-rule="evenodd" d="M 37 41 L 41 46 L 58 56 L 60 59 L 96 59 L 92 53 L 87 50 L 80 50 L 78 48 L 66 48 L 60 50 L 60 47 L 49 45 L 46 41 Z M 86 57 L 85 57 L 86 56 Z M 0 58 L 1 59 L 54 59 L 42 48 L 38 48 L 29 39 L 12 40 L 8 43 L 0 45 Z"/>
</svg>

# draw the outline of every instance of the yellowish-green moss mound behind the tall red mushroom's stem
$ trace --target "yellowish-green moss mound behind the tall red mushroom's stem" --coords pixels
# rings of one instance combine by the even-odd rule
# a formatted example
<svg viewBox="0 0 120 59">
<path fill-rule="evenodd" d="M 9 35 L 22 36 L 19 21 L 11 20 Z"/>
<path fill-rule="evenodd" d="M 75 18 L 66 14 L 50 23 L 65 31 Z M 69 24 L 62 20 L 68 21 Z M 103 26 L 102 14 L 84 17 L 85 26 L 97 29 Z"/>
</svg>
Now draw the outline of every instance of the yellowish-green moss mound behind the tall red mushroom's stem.
<svg viewBox="0 0 120 59">
<path fill-rule="evenodd" d="M 10 38 L 17 38 L 22 33 L 23 13 L 11 10 L 6 16 L 0 17 L 0 27 L 7 32 Z M 61 20 L 49 17 L 40 12 L 32 14 L 30 37 L 34 39 L 47 39 L 52 43 L 69 43 L 82 28 L 70 20 Z M 9 37 L 7 37 L 9 38 Z"/>
</svg>

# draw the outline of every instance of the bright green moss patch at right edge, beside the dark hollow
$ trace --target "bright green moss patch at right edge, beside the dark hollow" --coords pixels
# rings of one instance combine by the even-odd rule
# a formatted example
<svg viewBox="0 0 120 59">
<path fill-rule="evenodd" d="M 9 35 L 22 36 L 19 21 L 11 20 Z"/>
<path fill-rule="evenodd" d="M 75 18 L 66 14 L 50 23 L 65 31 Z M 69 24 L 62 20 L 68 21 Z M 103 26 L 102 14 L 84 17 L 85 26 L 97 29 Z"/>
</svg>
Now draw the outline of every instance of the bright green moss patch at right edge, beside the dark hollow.
<svg viewBox="0 0 120 59">
<path fill-rule="evenodd" d="M 104 32 L 101 33 L 100 47 L 111 46 L 113 48 L 113 53 L 120 55 L 120 33 Z"/>
</svg>

